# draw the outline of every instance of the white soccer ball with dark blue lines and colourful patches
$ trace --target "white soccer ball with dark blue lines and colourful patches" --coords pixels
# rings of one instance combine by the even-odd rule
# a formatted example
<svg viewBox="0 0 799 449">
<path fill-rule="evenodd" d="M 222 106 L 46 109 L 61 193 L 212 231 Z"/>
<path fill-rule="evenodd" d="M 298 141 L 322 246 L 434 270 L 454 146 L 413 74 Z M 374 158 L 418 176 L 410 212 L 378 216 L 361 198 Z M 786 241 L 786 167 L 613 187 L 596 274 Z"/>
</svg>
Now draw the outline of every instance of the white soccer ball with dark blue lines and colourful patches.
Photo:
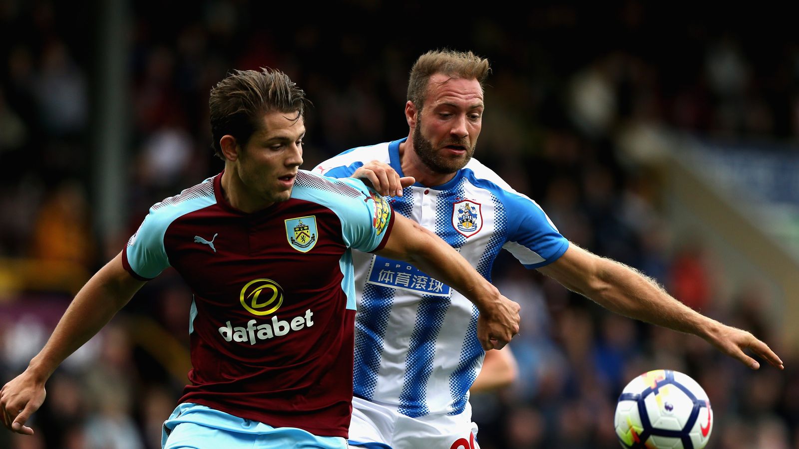
<svg viewBox="0 0 799 449">
<path fill-rule="evenodd" d="M 690 376 L 655 370 L 624 387 L 614 426 L 622 447 L 702 449 L 713 430 L 713 410 Z"/>
</svg>

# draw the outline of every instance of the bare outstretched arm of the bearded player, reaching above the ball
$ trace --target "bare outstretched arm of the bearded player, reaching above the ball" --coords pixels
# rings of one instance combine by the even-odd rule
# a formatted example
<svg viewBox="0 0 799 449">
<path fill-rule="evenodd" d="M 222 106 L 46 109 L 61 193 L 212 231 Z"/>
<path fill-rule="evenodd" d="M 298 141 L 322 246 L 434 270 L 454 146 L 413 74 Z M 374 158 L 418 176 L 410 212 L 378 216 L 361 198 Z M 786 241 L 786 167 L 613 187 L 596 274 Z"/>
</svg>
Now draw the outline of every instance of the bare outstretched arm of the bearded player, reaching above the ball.
<svg viewBox="0 0 799 449">
<path fill-rule="evenodd" d="M 700 336 L 749 368 L 760 368 L 760 364 L 747 356 L 745 349 L 783 368 L 777 354 L 749 332 L 703 316 L 633 268 L 596 256 L 575 244 L 539 271 L 611 312 Z"/>
</svg>

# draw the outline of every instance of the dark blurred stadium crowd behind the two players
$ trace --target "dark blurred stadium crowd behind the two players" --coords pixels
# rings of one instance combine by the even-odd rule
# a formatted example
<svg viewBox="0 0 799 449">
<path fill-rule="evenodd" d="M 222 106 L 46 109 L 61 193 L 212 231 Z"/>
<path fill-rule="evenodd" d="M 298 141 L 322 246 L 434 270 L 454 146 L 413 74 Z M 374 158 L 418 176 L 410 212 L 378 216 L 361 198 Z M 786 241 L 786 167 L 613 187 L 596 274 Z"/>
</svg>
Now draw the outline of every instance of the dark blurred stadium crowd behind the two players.
<svg viewBox="0 0 799 449">
<path fill-rule="evenodd" d="M 618 447 L 618 392 L 654 368 L 705 387 L 710 447 L 799 447 L 799 45 L 782 7 L 0 1 L 0 379 L 149 205 L 221 169 L 207 100 L 229 70 L 271 66 L 306 90 L 311 169 L 407 135 L 408 70 L 446 46 L 493 66 L 481 161 L 570 240 L 749 329 L 786 366 L 750 372 L 503 257 L 520 379 L 473 396 L 482 447 Z M 0 447 L 157 447 L 190 299 L 174 272 L 146 285 L 50 379 L 37 435 L 2 431 Z"/>
</svg>

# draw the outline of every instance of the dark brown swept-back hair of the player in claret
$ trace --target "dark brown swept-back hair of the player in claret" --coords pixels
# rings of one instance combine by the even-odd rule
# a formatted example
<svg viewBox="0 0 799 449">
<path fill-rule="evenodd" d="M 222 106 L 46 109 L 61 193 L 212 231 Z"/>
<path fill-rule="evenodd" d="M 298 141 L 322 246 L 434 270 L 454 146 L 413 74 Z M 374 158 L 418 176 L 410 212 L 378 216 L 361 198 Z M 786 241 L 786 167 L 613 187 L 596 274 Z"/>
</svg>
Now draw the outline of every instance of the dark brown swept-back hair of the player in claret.
<svg viewBox="0 0 799 449">
<path fill-rule="evenodd" d="M 303 89 L 280 70 L 234 70 L 211 89 L 208 105 L 213 150 L 225 160 L 219 145 L 222 136 L 230 134 L 244 146 L 260 128 L 264 113 L 297 113 L 299 120 L 309 104 Z"/>
</svg>

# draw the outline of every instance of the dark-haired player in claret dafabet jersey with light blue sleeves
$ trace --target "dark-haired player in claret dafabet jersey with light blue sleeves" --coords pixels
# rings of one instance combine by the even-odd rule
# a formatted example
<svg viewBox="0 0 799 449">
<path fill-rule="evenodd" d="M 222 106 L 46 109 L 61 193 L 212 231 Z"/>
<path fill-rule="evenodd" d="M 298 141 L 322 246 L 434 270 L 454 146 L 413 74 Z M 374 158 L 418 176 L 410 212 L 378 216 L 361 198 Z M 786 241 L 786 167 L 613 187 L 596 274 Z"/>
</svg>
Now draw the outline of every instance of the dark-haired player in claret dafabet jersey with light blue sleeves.
<svg viewBox="0 0 799 449">
<path fill-rule="evenodd" d="M 471 292 L 485 348 L 519 329 L 508 300 L 435 234 L 396 216 L 362 181 L 302 164 L 302 90 L 272 70 L 212 89 L 225 170 L 150 209 L 126 248 L 81 289 L 42 352 L 0 391 L 6 427 L 25 426 L 46 379 L 168 266 L 194 293 L 193 369 L 164 447 L 347 447 L 355 291 L 350 248 L 410 260 Z"/>
</svg>

